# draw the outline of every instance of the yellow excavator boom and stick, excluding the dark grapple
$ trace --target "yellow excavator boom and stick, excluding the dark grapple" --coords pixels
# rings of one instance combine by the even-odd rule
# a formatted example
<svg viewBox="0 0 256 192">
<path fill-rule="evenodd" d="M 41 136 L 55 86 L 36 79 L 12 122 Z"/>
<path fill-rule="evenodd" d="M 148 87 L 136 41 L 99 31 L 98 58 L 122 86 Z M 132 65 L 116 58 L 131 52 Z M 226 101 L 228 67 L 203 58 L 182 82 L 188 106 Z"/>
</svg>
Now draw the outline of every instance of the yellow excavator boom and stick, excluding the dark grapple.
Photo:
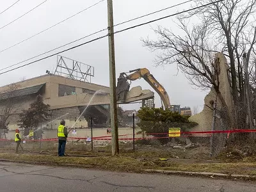
<svg viewBox="0 0 256 192">
<path fill-rule="evenodd" d="M 142 77 L 158 93 L 158 95 L 160 96 L 163 102 L 164 108 L 165 109 L 170 108 L 170 98 L 168 96 L 168 93 L 166 92 L 164 87 L 156 80 L 156 78 L 152 74 L 150 74 L 147 68 L 138 68 L 135 70 L 130 70 L 129 73 L 132 73 L 132 74 L 129 74 L 129 75 L 126 73 L 120 74 L 120 77 L 118 78 L 118 82 L 121 82 L 121 81 L 124 82 L 125 80 L 135 81 Z"/>
</svg>

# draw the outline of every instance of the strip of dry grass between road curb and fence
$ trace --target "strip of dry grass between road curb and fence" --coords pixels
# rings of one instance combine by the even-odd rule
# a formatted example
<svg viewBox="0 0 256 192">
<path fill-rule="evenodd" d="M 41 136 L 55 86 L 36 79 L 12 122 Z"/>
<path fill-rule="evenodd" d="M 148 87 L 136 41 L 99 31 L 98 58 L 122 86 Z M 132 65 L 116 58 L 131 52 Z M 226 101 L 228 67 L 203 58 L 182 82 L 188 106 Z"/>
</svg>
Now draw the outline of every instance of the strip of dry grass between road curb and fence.
<svg viewBox="0 0 256 192">
<path fill-rule="evenodd" d="M 74 153 L 76 154 L 76 152 Z M 12 154 L 7 152 L 0 153 L 0 159 L 11 159 L 15 161 L 26 161 L 29 163 L 46 163 L 61 166 L 63 164 L 74 164 L 84 167 L 93 167 L 102 170 L 137 172 L 141 173 L 147 169 L 158 170 L 177 170 L 186 172 L 213 172 L 225 174 L 256 175 L 256 163 L 216 163 L 214 161 L 188 161 L 189 159 L 168 159 L 160 161 L 159 157 L 150 157 L 149 154 L 139 154 L 129 156 L 110 156 L 109 154 L 86 153 L 88 156 L 95 157 L 57 157 L 39 154 Z M 107 156 L 106 156 L 107 155 Z M 130 154 L 131 155 L 131 154 Z M 147 158 L 145 158 L 147 156 Z"/>
</svg>

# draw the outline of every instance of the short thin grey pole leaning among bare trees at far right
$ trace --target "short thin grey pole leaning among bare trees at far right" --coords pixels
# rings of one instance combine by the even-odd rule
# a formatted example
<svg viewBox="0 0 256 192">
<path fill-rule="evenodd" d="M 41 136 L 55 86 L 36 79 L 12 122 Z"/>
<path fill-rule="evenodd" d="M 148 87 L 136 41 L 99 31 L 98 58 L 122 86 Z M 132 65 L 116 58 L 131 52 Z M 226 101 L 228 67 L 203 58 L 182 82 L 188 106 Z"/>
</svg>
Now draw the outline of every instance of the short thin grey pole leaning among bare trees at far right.
<svg viewBox="0 0 256 192">
<path fill-rule="evenodd" d="M 246 100 L 247 100 L 247 113 L 250 129 L 253 129 L 252 124 L 252 103 L 251 103 L 251 94 L 250 94 L 250 84 L 249 84 L 249 75 L 248 75 L 248 62 L 246 53 L 243 54 L 243 64 L 245 72 L 245 88 L 246 88 Z"/>
</svg>

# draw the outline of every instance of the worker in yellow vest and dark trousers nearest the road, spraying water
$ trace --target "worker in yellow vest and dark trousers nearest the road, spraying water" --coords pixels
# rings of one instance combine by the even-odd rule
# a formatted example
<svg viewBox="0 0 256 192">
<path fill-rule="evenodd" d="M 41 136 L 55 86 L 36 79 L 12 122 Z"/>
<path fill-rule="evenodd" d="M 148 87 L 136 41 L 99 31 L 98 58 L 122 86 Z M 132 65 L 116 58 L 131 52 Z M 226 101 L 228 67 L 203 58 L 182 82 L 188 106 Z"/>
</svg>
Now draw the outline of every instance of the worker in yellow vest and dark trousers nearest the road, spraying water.
<svg viewBox="0 0 256 192">
<path fill-rule="evenodd" d="M 68 137 L 67 127 L 65 127 L 65 120 L 61 120 L 57 133 L 58 133 L 58 140 L 59 140 L 58 156 L 62 157 L 65 154 L 65 147 L 66 147 L 66 142 Z"/>
</svg>

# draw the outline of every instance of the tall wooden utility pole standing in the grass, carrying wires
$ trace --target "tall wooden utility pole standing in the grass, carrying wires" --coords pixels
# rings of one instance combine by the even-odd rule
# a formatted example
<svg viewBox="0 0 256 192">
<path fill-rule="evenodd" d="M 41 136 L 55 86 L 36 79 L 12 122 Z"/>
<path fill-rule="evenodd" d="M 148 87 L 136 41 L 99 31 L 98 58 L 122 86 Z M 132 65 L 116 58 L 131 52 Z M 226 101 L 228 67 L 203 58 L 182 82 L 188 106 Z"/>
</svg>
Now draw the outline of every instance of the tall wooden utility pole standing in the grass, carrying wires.
<svg viewBox="0 0 256 192">
<path fill-rule="evenodd" d="M 112 134 L 112 155 L 119 154 L 118 124 L 116 104 L 116 68 L 114 42 L 113 1 L 108 0 L 108 44 L 109 44 L 109 84 L 110 84 L 110 118 Z"/>
</svg>

